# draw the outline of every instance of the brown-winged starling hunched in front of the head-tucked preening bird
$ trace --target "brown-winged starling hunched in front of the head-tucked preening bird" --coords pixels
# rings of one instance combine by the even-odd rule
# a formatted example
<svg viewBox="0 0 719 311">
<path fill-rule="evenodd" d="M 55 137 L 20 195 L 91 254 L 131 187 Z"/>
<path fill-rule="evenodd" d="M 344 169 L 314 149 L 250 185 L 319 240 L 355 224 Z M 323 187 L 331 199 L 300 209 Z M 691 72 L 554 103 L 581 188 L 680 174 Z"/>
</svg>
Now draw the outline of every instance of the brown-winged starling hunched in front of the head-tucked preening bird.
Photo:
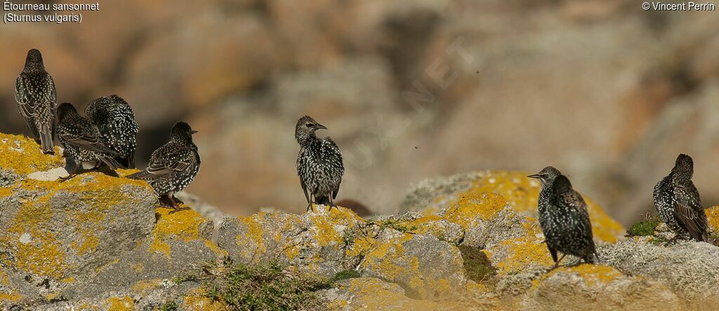
<svg viewBox="0 0 719 311">
<path fill-rule="evenodd" d="M 113 170 L 120 167 L 115 161 L 117 153 L 104 145 L 95 123 L 79 115 L 75 106 L 69 102 L 58 106 L 58 139 L 65 151 L 75 160 L 75 169 L 65 179 L 75 176 L 81 164 L 97 168 L 104 163 Z"/>
</svg>

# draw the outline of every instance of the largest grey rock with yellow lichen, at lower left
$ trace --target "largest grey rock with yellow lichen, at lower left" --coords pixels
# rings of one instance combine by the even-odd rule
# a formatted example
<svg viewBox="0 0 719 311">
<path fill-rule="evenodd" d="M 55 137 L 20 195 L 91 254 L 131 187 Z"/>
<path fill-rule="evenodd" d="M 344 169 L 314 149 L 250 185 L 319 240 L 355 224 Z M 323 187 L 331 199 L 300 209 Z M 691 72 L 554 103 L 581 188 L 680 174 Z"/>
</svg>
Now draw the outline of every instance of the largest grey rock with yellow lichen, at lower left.
<svg viewBox="0 0 719 311">
<path fill-rule="evenodd" d="M 152 188 L 86 173 L 60 183 L 25 179 L 0 193 L 1 264 L 44 295 L 137 246 L 154 226 Z"/>
</svg>

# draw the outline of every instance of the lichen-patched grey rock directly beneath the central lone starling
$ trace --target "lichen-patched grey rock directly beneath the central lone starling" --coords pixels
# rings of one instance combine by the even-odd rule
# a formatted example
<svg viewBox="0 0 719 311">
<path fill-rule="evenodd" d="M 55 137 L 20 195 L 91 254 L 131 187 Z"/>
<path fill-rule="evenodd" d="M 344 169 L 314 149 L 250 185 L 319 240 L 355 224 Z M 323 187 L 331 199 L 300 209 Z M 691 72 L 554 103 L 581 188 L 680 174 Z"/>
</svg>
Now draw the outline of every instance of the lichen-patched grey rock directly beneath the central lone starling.
<svg viewBox="0 0 719 311">
<path fill-rule="evenodd" d="M 347 233 L 365 220 L 339 207 L 315 206 L 306 214 L 258 213 L 226 218 L 217 243 L 244 263 L 277 260 L 301 272 L 324 277 L 352 269 L 361 252 L 348 252 Z"/>
</svg>

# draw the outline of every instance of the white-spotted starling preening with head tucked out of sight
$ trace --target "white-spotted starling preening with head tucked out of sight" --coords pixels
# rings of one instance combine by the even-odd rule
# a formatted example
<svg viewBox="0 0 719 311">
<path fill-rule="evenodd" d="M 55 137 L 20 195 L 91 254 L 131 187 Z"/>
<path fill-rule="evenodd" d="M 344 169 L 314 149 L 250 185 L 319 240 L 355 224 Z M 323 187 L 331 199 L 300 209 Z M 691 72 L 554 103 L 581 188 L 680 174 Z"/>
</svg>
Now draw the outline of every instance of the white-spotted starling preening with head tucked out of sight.
<svg viewBox="0 0 719 311">
<path fill-rule="evenodd" d="M 97 125 L 103 143 L 119 155 L 115 160 L 125 168 L 134 168 L 139 127 L 132 107 L 122 97 L 110 95 L 90 102 L 85 114 Z"/>
</svg>

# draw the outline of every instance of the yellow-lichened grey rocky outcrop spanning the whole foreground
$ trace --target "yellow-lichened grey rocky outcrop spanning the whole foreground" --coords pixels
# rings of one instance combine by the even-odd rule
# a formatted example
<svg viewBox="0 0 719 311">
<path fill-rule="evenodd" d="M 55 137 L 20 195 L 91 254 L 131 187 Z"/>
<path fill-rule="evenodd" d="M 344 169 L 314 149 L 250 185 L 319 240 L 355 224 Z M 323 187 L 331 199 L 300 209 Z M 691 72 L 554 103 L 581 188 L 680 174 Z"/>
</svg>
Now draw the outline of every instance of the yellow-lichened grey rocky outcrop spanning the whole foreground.
<svg viewBox="0 0 719 311">
<path fill-rule="evenodd" d="M 123 178 L 133 171 L 60 182 L 47 172 L 62 170 L 61 157 L 21 136 L 0 142 L 3 309 L 226 310 L 214 276 L 267 263 L 328 280 L 316 294 L 336 310 L 702 309 L 719 297 L 718 247 L 667 243 L 661 229 L 625 239 L 588 198 L 600 262 L 568 257 L 551 269 L 539 184 L 522 172 L 423 181 L 402 214 L 375 219 L 341 206 L 203 216 L 163 207 L 147 184 Z M 707 215 L 716 234 L 719 206 Z"/>
</svg>

